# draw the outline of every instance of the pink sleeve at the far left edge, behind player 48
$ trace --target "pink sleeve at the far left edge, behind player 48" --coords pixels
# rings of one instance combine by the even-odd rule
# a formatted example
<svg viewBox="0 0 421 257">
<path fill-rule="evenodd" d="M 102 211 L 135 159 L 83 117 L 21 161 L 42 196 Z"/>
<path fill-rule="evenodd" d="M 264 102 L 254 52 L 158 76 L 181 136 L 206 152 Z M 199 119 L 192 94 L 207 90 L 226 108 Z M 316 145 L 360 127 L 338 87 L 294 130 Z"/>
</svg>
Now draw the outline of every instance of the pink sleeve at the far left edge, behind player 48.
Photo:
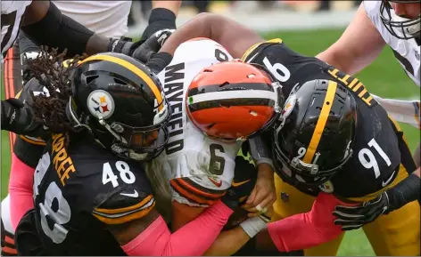
<svg viewBox="0 0 421 257">
<path fill-rule="evenodd" d="M 18 157 L 12 154 L 9 194 L 13 229 L 16 229 L 23 214 L 34 208 L 34 198 L 32 196 L 34 172 L 34 168 L 24 164 Z"/>
</svg>

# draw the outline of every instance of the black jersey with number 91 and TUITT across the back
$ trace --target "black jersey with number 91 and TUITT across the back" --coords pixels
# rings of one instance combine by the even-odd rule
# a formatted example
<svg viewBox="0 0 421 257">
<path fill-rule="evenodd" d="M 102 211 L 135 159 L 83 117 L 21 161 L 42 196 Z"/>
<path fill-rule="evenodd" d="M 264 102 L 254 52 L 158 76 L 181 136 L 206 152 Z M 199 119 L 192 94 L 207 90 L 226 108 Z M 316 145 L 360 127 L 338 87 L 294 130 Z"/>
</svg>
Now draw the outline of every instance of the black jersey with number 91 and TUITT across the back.
<svg viewBox="0 0 421 257">
<path fill-rule="evenodd" d="M 293 52 L 280 39 L 252 46 L 242 60 L 264 66 L 283 86 L 285 98 L 296 84 L 315 79 L 334 80 L 355 96 L 358 115 L 352 157 L 320 189 L 339 197 L 364 197 L 392 184 L 400 170 L 401 137 L 384 108 L 358 78 L 346 75 L 315 57 Z M 266 133 L 265 137 L 265 141 L 272 142 L 271 133 Z M 318 193 L 314 189 L 301 191 L 312 195 Z"/>
</svg>

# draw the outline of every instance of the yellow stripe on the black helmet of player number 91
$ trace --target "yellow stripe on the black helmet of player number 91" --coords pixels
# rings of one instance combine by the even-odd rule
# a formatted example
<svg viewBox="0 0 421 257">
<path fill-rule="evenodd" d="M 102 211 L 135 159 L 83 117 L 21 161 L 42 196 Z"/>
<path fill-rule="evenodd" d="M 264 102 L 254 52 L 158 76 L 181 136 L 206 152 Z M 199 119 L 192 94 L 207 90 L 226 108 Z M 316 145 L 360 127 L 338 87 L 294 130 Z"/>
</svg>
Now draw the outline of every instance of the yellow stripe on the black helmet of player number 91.
<svg viewBox="0 0 421 257">
<path fill-rule="evenodd" d="M 334 95 L 336 93 L 337 86 L 338 84 L 334 81 L 329 81 L 329 84 L 327 84 L 326 97 L 323 102 L 322 110 L 320 111 L 320 116 L 318 116 L 318 124 L 316 124 L 316 128 L 314 129 L 306 155 L 302 159 L 302 161 L 306 164 L 311 164 L 314 154 L 318 149 L 318 143 L 320 142 L 323 130 L 325 129 L 327 117 L 329 116 L 330 109 L 334 104 Z"/>
</svg>

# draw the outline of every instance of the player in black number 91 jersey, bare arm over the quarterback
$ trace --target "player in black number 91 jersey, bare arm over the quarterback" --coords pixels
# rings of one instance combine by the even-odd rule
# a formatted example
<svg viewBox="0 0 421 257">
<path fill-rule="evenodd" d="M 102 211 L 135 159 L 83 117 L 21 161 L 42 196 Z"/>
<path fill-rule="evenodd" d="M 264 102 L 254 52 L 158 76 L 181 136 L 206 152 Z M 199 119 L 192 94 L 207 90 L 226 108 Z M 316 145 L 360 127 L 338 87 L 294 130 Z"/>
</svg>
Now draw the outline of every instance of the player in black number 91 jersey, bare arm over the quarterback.
<svg viewBox="0 0 421 257">
<path fill-rule="evenodd" d="M 377 203 L 389 214 L 364 226 L 376 254 L 419 254 L 419 178 L 409 175 L 416 165 L 399 125 L 359 79 L 293 52 L 281 39 L 265 42 L 249 28 L 216 14 L 199 15 L 179 28 L 148 64 L 163 68 L 163 60 L 178 44 L 200 36 L 216 40 L 234 58 L 259 64 L 283 85 L 286 96 L 291 93 L 285 124 L 277 124 L 267 139 L 278 174 L 276 222 L 268 230 L 279 250 L 306 248 L 306 254 L 335 255 L 341 229 L 359 226 L 335 226 L 335 205 Z M 288 113 L 295 114 L 299 107 L 300 117 Z M 304 110 L 309 116 L 303 116 Z M 288 115 L 303 120 L 288 123 Z"/>
</svg>

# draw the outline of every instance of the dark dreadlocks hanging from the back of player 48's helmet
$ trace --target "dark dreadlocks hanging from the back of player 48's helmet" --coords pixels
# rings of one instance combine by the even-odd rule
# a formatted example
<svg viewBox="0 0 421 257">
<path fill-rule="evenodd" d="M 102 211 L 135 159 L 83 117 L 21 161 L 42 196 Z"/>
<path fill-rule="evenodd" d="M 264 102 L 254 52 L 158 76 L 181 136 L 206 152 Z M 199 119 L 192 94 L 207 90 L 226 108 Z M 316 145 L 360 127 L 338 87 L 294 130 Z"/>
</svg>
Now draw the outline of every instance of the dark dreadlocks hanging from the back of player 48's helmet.
<svg viewBox="0 0 421 257">
<path fill-rule="evenodd" d="M 34 119 L 47 126 L 53 133 L 68 133 L 72 130 L 73 125 L 66 116 L 66 105 L 71 95 L 70 76 L 78 61 L 86 57 L 86 54 L 77 55 L 64 65 L 66 52 L 67 50 L 58 53 L 57 49 L 48 52 L 48 47 L 42 46 L 37 58 L 28 60 L 34 77 L 49 92 L 49 96 L 39 94 L 36 97 L 31 92 Z"/>
</svg>

